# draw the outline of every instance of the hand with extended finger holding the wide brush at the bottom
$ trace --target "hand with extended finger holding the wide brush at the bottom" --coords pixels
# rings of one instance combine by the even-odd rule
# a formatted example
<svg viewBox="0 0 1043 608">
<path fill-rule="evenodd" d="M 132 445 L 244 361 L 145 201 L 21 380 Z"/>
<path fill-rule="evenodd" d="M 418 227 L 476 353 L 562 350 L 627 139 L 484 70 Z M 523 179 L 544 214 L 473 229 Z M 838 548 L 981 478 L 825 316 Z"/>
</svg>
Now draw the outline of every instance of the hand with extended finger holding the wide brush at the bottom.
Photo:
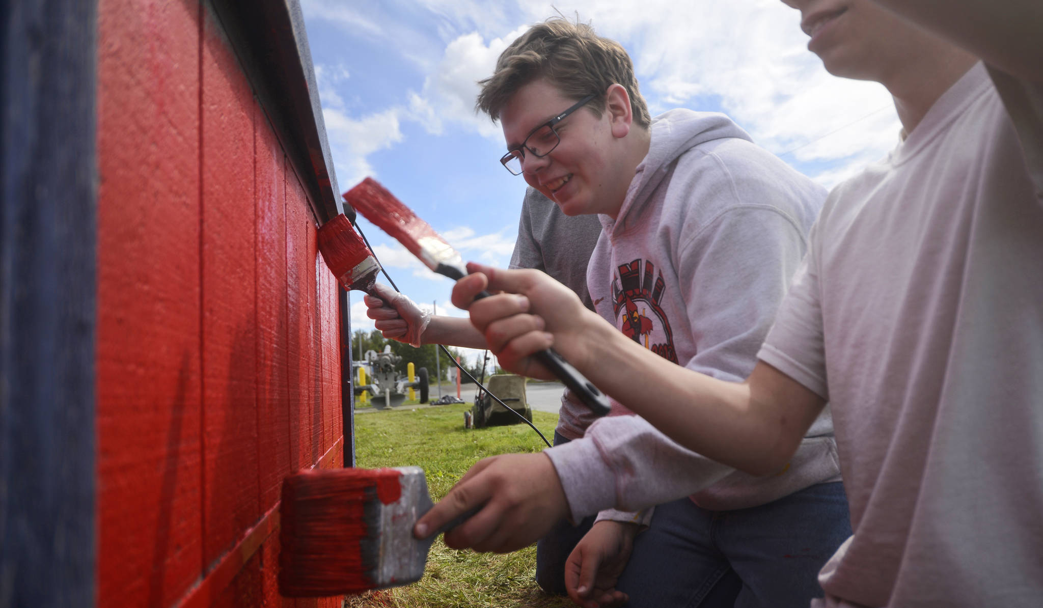
<svg viewBox="0 0 1043 608">
<path fill-rule="evenodd" d="M 568 515 L 561 481 L 544 454 L 505 454 L 479 461 L 416 522 L 425 538 L 455 517 L 484 505 L 445 533 L 453 549 L 508 553 L 528 546 Z"/>
</svg>

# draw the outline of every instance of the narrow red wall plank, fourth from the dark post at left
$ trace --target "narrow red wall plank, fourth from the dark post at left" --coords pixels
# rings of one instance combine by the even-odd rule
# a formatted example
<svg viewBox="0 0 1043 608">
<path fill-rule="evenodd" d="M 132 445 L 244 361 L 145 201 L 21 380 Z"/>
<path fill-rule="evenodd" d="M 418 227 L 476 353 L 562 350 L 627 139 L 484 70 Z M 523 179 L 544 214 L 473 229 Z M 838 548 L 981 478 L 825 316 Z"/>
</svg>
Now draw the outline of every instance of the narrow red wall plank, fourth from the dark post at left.
<svg viewBox="0 0 1043 608">
<path fill-rule="evenodd" d="M 315 462 L 318 446 L 312 441 L 311 416 L 311 301 L 314 257 L 310 254 L 311 214 L 305 190 L 289 164 L 286 167 L 286 256 L 289 313 L 288 371 L 291 441 L 295 461 L 291 469 Z"/>
</svg>

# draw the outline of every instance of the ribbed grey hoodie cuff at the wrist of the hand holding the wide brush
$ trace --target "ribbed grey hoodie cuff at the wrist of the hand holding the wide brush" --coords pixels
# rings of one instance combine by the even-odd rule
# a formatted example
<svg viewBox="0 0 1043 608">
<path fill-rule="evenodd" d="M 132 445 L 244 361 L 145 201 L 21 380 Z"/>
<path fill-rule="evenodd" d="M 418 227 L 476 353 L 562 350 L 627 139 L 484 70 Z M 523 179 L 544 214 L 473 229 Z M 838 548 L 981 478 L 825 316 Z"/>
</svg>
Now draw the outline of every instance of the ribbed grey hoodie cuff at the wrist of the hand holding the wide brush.
<svg viewBox="0 0 1043 608">
<path fill-rule="evenodd" d="M 561 480 L 573 521 L 615 506 L 615 479 L 590 439 L 543 449 Z"/>
</svg>

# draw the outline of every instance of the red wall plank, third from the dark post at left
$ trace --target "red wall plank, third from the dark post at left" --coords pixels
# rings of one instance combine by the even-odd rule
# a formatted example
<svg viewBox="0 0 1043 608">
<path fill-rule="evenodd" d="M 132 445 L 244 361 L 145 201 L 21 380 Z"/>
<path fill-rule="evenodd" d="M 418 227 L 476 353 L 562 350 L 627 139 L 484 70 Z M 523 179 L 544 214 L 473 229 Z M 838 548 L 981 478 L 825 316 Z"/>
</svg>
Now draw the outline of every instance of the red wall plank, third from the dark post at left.
<svg viewBox="0 0 1043 608">
<path fill-rule="evenodd" d="M 258 204 L 258 466 L 261 507 L 278 501 L 290 472 L 287 409 L 286 191 L 284 153 L 256 105 Z"/>
</svg>

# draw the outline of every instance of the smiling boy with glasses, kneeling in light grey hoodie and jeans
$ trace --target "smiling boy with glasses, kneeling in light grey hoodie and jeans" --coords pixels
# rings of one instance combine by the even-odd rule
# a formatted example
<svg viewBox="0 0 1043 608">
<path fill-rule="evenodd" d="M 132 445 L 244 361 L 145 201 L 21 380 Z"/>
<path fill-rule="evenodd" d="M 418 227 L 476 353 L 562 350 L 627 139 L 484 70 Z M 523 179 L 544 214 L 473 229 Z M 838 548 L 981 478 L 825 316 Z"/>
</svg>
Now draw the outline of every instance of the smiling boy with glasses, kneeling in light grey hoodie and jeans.
<svg viewBox="0 0 1043 608">
<path fill-rule="evenodd" d="M 723 115 L 673 110 L 653 119 L 626 51 L 586 25 L 533 26 L 482 86 L 478 107 L 503 127 L 504 166 L 566 216 L 601 221 L 587 269 L 598 313 L 678 368 L 745 378 L 825 191 Z M 804 606 L 821 594 L 815 573 L 850 533 L 828 414 L 784 470 L 761 479 L 680 447 L 617 403 L 613 410 L 621 415 L 545 451 L 550 459 L 520 458 L 542 459 L 577 514 L 701 491 L 654 512 L 599 515 L 568 564 L 601 573 L 603 600 Z M 503 479 L 509 492 L 527 487 L 525 475 Z M 651 491 L 637 489 L 646 483 Z M 556 515 L 516 533 L 539 537 L 565 513 Z"/>
</svg>

